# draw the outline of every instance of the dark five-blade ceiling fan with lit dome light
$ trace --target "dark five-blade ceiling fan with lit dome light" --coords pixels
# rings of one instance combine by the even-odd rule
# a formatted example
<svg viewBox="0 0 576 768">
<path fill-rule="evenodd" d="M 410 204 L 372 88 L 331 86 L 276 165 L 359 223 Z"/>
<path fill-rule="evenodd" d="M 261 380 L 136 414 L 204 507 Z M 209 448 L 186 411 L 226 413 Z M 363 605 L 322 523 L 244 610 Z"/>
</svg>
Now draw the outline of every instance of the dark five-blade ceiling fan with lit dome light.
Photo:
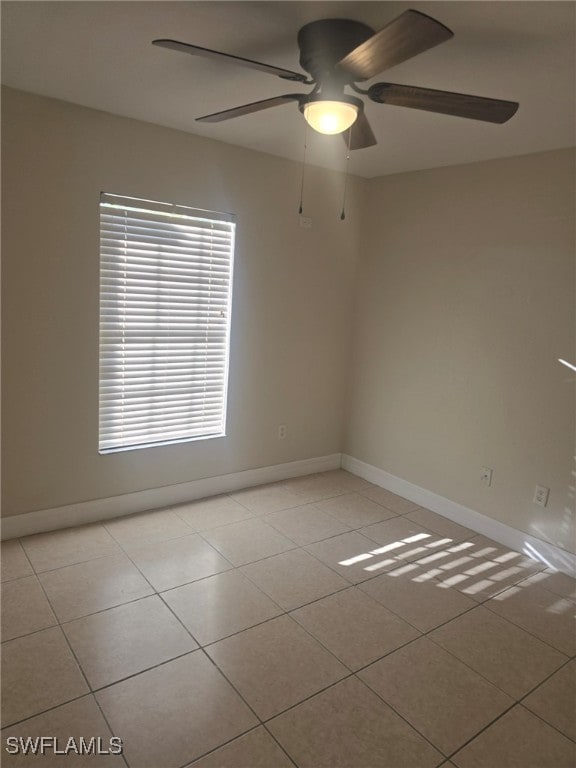
<svg viewBox="0 0 576 768">
<path fill-rule="evenodd" d="M 423 109 L 490 123 L 505 123 L 515 114 L 518 103 L 514 101 L 394 83 L 374 83 L 368 89 L 357 85 L 358 82 L 370 80 L 380 72 L 449 40 L 453 34 L 444 24 L 413 10 L 405 11 L 379 32 L 349 19 L 313 21 L 300 29 L 297 38 L 300 66 L 310 77 L 177 40 L 152 42 L 162 48 L 227 61 L 277 75 L 283 80 L 313 86 L 307 94 L 286 93 L 262 99 L 198 117 L 196 119 L 199 122 L 219 123 L 296 102 L 312 128 L 325 134 L 344 133 L 351 128 L 348 137 L 350 149 L 363 149 L 376 144 L 376 139 L 364 114 L 364 102 L 357 96 L 345 93 L 346 87 L 379 104 Z"/>
</svg>

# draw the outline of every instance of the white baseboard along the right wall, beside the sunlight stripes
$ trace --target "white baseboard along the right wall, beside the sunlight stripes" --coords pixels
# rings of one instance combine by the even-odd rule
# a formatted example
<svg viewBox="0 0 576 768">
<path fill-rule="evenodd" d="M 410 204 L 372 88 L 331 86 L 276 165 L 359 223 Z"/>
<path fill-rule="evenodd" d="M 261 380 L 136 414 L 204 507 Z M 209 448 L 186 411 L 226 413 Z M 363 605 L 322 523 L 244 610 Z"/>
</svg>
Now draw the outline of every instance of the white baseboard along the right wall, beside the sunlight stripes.
<svg viewBox="0 0 576 768">
<path fill-rule="evenodd" d="M 426 509 L 437 512 L 439 515 L 447 517 L 455 523 L 471 528 L 477 533 L 488 536 L 500 544 L 504 544 L 518 552 L 524 552 L 525 555 L 534 560 L 540 560 L 551 568 L 563 571 L 569 576 L 576 577 L 576 555 L 567 552 L 560 547 L 543 541 L 535 536 L 530 536 L 523 531 L 512 528 L 505 523 L 494 520 L 492 517 L 475 512 L 473 509 L 457 504 L 455 501 L 439 496 L 425 488 L 402 480 L 400 477 L 391 475 L 383 469 L 366 464 L 364 461 L 355 459 L 353 456 L 342 455 L 342 468 L 352 472 L 370 483 L 386 488 L 392 493 L 404 496 L 415 504 L 419 504 Z"/>
</svg>

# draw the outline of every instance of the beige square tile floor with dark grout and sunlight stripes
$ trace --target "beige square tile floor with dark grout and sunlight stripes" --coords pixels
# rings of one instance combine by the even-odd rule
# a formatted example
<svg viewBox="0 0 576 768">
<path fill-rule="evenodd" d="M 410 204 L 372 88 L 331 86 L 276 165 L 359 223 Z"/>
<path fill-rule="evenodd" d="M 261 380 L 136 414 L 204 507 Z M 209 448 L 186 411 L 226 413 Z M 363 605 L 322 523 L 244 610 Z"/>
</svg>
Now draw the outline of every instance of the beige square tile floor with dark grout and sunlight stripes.
<svg viewBox="0 0 576 768">
<path fill-rule="evenodd" d="M 576 765 L 576 582 L 342 470 L 5 542 L 2 598 L 6 768 Z"/>
</svg>

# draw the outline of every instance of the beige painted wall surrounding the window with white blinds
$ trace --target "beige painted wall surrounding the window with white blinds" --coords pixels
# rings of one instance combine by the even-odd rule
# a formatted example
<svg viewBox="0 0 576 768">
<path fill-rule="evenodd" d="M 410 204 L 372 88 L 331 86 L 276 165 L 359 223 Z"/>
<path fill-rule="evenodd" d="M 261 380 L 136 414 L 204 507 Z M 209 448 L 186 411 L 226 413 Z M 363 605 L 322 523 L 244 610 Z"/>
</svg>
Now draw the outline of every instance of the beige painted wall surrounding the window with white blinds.
<svg viewBox="0 0 576 768">
<path fill-rule="evenodd" d="M 364 182 L 6 89 L 3 514 L 338 452 Z M 100 191 L 237 214 L 228 437 L 98 455 Z M 277 427 L 288 437 L 279 442 Z"/>
</svg>

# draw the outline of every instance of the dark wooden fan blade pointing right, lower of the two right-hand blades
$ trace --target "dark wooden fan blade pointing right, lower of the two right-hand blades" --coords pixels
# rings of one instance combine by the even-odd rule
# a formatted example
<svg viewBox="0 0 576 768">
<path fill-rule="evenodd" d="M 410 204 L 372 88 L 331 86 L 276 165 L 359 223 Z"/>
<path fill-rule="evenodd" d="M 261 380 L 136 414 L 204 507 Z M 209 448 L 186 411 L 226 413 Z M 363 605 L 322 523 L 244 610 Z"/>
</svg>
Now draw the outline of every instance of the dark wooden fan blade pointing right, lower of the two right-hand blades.
<svg viewBox="0 0 576 768">
<path fill-rule="evenodd" d="M 424 109 L 442 115 L 485 120 L 488 123 L 505 123 L 516 113 L 518 102 L 486 99 L 465 93 L 436 91 L 433 88 L 417 88 L 412 85 L 375 83 L 368 89 L 372 101 L 393 104 L 396 107 Z"/>
</svg>

